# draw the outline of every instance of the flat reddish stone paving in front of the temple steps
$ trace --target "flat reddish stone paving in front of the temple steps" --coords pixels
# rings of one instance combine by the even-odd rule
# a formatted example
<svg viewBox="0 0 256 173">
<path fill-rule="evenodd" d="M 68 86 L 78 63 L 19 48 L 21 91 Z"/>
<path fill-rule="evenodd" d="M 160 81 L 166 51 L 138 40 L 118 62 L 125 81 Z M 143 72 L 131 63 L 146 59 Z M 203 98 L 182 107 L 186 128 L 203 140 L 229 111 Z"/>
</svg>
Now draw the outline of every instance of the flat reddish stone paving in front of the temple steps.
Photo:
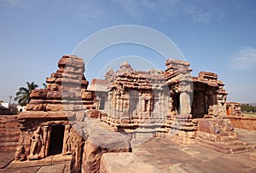
<svg viewBox="0 0 256 173">
<path fill-rule="evenodd" d="M 253 172 L 256 162 L 248 153 L 223 154 L 198 145 L 180 145 L 168 138 L 150 138 L 133 147 L 144 163 L 161 172 Z"/>
</svg>

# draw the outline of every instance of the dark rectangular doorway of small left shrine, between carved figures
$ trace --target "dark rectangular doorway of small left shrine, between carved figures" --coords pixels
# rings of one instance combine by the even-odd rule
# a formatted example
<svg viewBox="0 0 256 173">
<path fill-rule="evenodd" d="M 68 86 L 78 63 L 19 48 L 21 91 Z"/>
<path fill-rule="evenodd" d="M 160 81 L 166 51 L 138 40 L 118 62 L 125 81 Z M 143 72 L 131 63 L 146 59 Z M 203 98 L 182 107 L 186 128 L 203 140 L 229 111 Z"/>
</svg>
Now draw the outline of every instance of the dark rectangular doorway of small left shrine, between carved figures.
<svg viewBox="0 0 256 173">
<path fill-rule="evenodd" d="M 64 130 L 64 125 L 53 125 L 51 127 L 49 155 L 62 153 Z"/>
</svg>

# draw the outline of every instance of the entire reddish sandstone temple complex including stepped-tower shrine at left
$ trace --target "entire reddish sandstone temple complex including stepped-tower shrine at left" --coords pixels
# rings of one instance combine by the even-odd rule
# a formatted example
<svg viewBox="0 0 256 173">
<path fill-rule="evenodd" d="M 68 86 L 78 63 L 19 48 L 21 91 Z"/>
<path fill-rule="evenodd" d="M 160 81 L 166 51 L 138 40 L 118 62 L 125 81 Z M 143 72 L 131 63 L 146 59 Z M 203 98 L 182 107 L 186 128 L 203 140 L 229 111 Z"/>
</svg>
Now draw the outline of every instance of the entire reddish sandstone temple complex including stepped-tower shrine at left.
<svg viewBox="0 0 256 173">
<path fill-rule="evenodd" d="M 64 55 L 58 67 L 18 116 L 18 164 L 61 154 L 73 172 L 97 172 L 102 153 L 131 152 L 149 137 L 221 153 L 251 149 L 227 118 L 228 94 L 216 73 L 192 77 L 189 62 L 172 59 L 165 71 L 141 72 L 125 61 L 89 85 L 83 59 Z"/>
</svg>

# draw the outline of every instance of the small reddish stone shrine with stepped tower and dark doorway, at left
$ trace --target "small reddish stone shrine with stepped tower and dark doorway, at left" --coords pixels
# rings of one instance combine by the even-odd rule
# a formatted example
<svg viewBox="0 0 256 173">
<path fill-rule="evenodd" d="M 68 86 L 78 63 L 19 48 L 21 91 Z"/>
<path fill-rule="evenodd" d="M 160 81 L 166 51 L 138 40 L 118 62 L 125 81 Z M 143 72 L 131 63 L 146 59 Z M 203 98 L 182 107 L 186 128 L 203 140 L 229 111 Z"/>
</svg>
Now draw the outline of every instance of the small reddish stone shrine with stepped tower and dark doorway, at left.
<svg viewBox="0 0 256 173">
<path fill-rule="evenodd" d="M 87 90 L 84 78 L 84 61 L 64 55 L 58 67 L 46 78 L 46 89 L 32 90 L 32 101 L 27 104 L 26 112 L 18 116 L 21 133 L 16 160 L 67 155 L 82 147 L 84 134 L 76 132 L 82 128 L 78 124 L 84 122 L 85 109 L 94 108 L 93 95 Z M 74 154 L 73 158 L 81 155 Z"/>
</svg>

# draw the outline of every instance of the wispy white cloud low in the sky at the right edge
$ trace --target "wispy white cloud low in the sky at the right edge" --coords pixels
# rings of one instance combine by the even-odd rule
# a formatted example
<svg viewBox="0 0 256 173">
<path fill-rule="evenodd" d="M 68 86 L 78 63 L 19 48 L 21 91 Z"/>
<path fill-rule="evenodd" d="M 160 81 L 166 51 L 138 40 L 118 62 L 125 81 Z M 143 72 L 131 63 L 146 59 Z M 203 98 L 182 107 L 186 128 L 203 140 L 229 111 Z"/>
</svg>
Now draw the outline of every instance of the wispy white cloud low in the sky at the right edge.
<svg viewBox="0 0 256 173">
<path fill-rule="evenodd" d="M 256 49 L 247 47 L 240 49 L 233 55 L 230 68 L 234 70 L 253 70 L 256 67 Z"/>
</svg>

